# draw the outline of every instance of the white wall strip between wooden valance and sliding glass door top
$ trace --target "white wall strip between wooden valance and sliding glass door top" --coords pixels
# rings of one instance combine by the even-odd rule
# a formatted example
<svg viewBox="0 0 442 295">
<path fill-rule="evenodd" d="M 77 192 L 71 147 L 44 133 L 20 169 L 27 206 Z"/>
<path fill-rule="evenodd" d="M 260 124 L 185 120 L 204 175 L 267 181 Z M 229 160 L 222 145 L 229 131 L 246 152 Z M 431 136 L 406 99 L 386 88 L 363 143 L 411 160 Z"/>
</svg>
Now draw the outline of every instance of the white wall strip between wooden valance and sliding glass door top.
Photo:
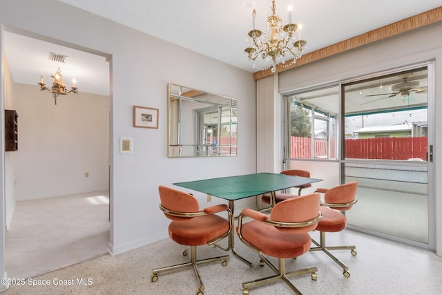
<svg viewBox="0 0 442 295">
<path fill-rule="evenodd" d="M 442 39 L 434 36 L 441 34 L 441 30 L 441 23 L 427 26 L 287 70 L 279 75 L 279 92 L 287 93 L 436 59 L 441 56 Z"/>
</svg>

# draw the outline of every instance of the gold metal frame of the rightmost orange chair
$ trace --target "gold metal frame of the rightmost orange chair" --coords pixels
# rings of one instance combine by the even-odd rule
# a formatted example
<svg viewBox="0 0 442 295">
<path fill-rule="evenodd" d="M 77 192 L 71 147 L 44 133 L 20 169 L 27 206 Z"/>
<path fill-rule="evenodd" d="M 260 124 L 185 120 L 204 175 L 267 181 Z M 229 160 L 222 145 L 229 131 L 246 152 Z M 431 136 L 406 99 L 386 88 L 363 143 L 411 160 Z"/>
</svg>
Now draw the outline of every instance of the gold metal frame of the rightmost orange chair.
<svg viewBox="0 0 442 295">
<path fill-rule="evenodd" d="M 352 189 L 353 187 L 353 189 Z M 352 206 L 354 204 L 356 204 L 356 202 L 358 202 L 357 198 L 356 198 L 356 189 L 358 187 L 358 182 L 349 182 L 347 184 L 341 184 L 337 187 L 333 187 L 332 189 L 334 190 L 339 190 L 341 188 L 349 188 L 351 190 L 351 193 L 349 196 L 349 198 L 353 198 L 353 200 L 351 202 L 345 202 L 345 203 L 337 203 L 337 202 L 321 202 L 321 206 L 325 207 L 325 208 L 321 208 L 321 211 L 323 212 L 323 221 L 327 220 L 327 213 L 325 212 L 325 210 L 335 210 L 335 211 L 347 211 L 349 209 L 352 208 Z M 316 189 L 316 192 L 318 193 L 327 193 L 327 191 L 330 191 L 332 189 Z M 326 198 L 326 196 L 325 196 Z M 325 199 L 326 200 L 326 199 Z M 341 212 L 339 212 L 339 214 L 343 215 L 343 218 L 345 218 L 345 215 Z M 318 223 L 318 227 L 320 228 L 320 223 Z M 347 221 L 345 219 L 345 225 L 343 226 L 345 228 L 345 226 L 347 225 Z M 310 251 L 323 251 L 325 254 L 327 254 L 327 256 L 329 256 L 330 258 L 332 258 L 332 260 L 334 260 L 335 263 L 337 263 L 340 267 L 342 267 L 343 269 L 343 275 L 348 278 L 350 276 L 349 273 L 349 267 L 347 267 L 347 265 L 345 265 L 342 261 L 338 260 L 338 258 L 336 258 L 336 256 L 334 256 L 332 253 L 330 253 L 330 251 L 333 250 L 351 250 L 351 254 L 352 256 L 356 256 L 358 253 L 356 252 L 356 246 L 354 245 L 348 245 L 348 246 L 327 246 L 325 245 L 325 233 L 327 231 L 323 230 L 321 231 L 320 229 L 316 229 L 318 230 L 319 233 L 319 242 L 317 242 L 316 240 L 314 240 L 313 238 L 311 239 L 311 242 L 313 242 L 316 247 L 311 247 Z M 340 230 L 333 230 L 333 231 L 329 231 L 329 232 L 336 232 L 336 231 L 341 231 L 343 229 Z"/>
</svg>

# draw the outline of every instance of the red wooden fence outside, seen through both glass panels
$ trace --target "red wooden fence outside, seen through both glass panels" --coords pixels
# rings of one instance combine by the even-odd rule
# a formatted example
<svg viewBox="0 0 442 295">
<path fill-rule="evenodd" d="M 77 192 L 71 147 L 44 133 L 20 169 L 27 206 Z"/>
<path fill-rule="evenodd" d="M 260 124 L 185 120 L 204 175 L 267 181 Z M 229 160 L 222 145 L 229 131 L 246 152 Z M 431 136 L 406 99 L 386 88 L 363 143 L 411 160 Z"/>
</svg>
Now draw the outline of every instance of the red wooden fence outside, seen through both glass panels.
<svg viewBox="0 0 442 295">
<path fill-rule="evenodd" d="M 314 140 L 315 158 L 327 158 L 327 141 Z M 330 144 L 330 158 L 336 158 L 334 142 Z M 291 137 L 292 159 L 311 159 L 311 138 Z M 345 140 L 345 158 L 407 160 L 419 158 L 427 160 L 427 137 L 379 137 L 358 140 Z"/>
</svg>

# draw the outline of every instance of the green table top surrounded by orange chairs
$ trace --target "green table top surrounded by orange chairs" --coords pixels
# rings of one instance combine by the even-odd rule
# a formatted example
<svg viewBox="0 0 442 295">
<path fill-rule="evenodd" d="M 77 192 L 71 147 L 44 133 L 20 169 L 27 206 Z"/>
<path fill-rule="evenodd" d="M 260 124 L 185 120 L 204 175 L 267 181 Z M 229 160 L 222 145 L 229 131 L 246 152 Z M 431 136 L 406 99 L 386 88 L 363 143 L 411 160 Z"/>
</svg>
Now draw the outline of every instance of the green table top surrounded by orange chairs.
<svg viewBox="0 0 442 295">
<path fill-rule="evenodd" d="M 177 187 L 192 189 L 200 193 L 208 193 L 211 196 L 223 198 L 224 200 L 239 200 L 318 181 L 321 181 L 321 179 L 280 173 L 256 173 L 189 182 L 175 182 L 174 184 Z"/>
</svg>

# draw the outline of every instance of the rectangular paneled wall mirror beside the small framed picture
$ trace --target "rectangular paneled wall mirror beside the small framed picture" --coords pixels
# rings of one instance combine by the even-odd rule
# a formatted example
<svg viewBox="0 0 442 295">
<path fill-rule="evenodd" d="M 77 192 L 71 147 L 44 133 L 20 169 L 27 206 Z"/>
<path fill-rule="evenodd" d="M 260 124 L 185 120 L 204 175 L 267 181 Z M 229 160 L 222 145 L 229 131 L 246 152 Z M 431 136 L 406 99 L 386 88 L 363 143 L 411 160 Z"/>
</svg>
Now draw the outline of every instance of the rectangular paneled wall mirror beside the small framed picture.
<svg viewBox="0 0 442 295">
<path fill-rule="evenodd" d="M 237 154 L 238 99 L 168 84 L 167 155 Z"/>
</svg>

